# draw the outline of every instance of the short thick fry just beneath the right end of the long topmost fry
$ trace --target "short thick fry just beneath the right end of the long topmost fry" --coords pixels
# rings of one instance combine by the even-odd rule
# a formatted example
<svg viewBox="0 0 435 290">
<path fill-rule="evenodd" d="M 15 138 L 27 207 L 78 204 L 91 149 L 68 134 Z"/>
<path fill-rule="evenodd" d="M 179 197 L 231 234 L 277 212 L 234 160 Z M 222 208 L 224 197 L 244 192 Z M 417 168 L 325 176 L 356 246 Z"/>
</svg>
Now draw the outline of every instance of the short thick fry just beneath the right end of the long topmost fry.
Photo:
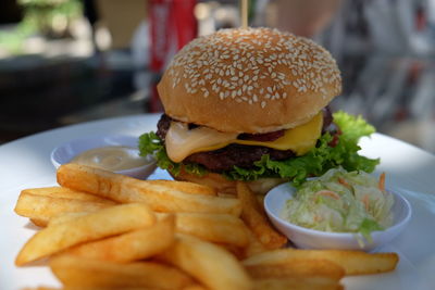
<svg viewBox="0 0 435 290">
<path fill-rule="evenodd" d="M 248 244 L 248 228 L 244 222 L 229 214 L 176 213 L 176 231 L 206 241 L 236 247 Z"/>
</svg>

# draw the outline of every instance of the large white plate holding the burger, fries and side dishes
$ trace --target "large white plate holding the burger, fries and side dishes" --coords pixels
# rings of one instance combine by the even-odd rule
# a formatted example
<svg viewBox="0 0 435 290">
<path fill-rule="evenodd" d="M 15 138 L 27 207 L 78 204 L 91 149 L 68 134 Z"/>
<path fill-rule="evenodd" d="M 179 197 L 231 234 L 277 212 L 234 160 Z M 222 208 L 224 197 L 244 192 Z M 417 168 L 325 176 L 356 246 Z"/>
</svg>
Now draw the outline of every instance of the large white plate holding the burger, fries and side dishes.
<svg viewBox="0 0 435 290">
<path fill-rule="evenodd" d="M 0 146 L 0 289 L 59 287 L 46 266 L 14 266 L 14 259 L 25 241 L 35 234 L 27 218 L 13 212 L 20 191 L 30 187 L 55 185 L 50 162 L 51 150 L 66 140 L 98 134 L 138 137 L 154 130 L 158 115 L 138 115 L 90 122 L 34 135 Z M 400 290 L 435 289 L 435 156 L 399 140 L 376 134 L 361 142 L 363 153 L 382 157 L 378 172 L 387 172 L 387 186 L 403 188 L 400 192 L 411 203 L 412 218 L 402 235 L 380 249 L 400 255 L 394 273 L 344 280 L 346 289 Z M 158 171 L 153 177 L 165 176 Z M 167 175 L 166 175 L 167 176 Z"/>
</svg>

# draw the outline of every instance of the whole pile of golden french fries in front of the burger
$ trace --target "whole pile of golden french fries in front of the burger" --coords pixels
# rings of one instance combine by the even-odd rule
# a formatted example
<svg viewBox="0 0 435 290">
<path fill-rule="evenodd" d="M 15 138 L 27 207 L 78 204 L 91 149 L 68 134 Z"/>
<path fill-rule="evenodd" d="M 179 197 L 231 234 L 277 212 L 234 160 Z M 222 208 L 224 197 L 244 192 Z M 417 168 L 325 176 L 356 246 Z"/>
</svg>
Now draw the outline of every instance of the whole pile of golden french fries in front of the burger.
<svg viewBox="0 0 435 290">
<path fill-rule="evenodd" d="M 289 248 L 244 182 L 224 196 L 77 164 L 57 177 L 58 187 L 20 194 L 15 212 L 41 229 L 15 264 L 47 261 L 64 289 L 343 289 L 347 275 L 398 263 L 395 253 Z"/>
</svg>

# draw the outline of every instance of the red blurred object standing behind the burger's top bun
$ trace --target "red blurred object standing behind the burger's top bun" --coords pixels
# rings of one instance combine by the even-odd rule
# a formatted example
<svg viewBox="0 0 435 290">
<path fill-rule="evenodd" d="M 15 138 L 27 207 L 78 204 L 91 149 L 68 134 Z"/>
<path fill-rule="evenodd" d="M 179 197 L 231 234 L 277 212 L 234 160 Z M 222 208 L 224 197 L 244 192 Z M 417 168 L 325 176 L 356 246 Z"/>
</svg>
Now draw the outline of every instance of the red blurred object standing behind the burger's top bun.
<svg viewBox="0 0 435 290">
<path fill-rule="evenodd" d="M 163 108 L 157 91 L 166 64 L 174 54 L 197 37 L 198 23 L 194 15 L 197 0 L 151 0 L 149 2 L 151 64 L 150 112 L 161 112 Z"/>
</svg>

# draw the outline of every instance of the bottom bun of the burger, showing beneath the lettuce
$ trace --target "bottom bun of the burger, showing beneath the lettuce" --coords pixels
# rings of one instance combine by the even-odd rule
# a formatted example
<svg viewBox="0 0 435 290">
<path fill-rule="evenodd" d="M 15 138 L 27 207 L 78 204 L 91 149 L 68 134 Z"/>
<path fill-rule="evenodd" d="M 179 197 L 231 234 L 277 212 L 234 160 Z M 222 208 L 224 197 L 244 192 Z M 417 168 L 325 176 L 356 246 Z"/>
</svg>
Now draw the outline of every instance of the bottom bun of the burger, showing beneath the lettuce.
<svg viewBox="0 0 435 290">
<path fill-rule="evenodd" d="M 173 176 L 174 177 L 174 176 Z M 176 180 L 190 181 L 200 184 L 209 187 L 213 187 L 221 193 L 236 194 L 236 181 L 226 179 L 222 174 L 208 173 L 204 176 L 197 176 L 188 174 L 185 171 L 181 171 L 179 174 L 174 177 Z M 284 184 L 287 180 L 282 178 L 260 178 L 254 181 L 247 181 L 248 187 L 258 194 L 265 194 L 269 190 L 277 185 Z"/>
</svg>

